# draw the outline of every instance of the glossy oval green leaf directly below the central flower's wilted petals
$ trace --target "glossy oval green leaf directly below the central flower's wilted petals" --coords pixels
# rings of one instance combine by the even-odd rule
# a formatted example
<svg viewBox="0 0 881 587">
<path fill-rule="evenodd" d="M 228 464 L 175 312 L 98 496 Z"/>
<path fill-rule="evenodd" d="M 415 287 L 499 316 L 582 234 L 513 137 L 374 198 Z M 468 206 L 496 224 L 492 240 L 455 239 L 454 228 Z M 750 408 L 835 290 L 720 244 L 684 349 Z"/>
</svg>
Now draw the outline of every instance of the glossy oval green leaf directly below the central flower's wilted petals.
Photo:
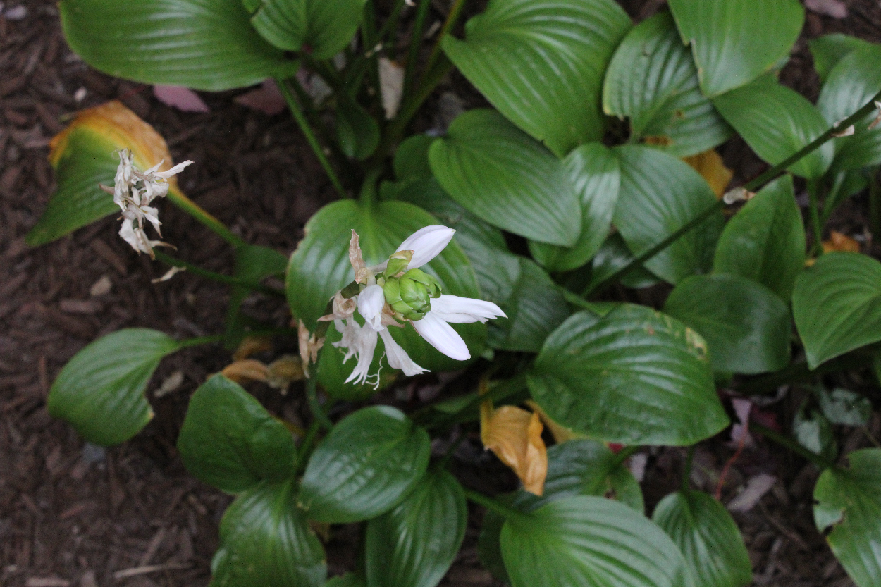
<svg viewBox="0 0 881 587">
<path fill-rule="evenodd" d="M 401 502 L 426 472 L 426 431 L 396 408 L 364 408 L 340 421 L 312 453 L 300 505 L 318 522 L 346 524 Z"/>
</svg>

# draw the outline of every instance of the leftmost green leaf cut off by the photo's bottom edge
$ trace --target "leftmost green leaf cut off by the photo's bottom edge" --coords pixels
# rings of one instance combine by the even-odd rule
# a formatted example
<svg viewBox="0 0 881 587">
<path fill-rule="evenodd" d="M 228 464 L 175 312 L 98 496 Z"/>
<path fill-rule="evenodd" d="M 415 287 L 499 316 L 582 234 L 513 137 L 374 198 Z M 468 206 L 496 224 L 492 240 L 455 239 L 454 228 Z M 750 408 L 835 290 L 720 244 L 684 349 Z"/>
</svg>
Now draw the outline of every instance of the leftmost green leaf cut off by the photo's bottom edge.
<svg viewBox="0 0 881 587">
<path fill-rule="evenodd" d="M 293 482 L 248 489 L 226 509 L 210 587 L 321 587 L 322 543 L 296 504 Z"/>
</svg>

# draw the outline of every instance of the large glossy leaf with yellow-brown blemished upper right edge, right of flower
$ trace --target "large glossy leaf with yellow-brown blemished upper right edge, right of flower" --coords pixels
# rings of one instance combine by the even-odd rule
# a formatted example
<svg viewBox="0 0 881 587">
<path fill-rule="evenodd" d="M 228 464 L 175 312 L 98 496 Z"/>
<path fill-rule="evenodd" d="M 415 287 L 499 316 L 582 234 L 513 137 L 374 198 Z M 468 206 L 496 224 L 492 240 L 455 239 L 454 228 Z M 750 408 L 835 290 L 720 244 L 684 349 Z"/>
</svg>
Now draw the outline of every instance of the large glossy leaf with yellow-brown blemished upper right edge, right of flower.
<svg viewBox="0 0 881 587">
<path fill-rule="evenodd" d="M 643 306 L 569 317 L 528 383 L 552 420 L 607 442 L 687 445 L 728 425 L 703 338 Z"/>
</svg>

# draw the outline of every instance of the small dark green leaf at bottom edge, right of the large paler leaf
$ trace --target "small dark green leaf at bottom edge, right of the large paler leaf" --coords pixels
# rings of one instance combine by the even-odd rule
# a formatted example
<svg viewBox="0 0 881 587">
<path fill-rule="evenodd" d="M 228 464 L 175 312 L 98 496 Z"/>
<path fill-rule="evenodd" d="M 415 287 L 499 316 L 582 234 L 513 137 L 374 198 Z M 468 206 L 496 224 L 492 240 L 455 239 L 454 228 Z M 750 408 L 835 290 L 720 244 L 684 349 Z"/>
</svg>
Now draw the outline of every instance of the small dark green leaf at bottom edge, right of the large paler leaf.
<svg viewBox="0 0 881 587">
<path fill-rule="evenodd" d="M 721 503 L 700 491 L 663 498 L 652 520 L 679 546 L 702 587 L 744 587 L 752 582 L 750 555 L 737 524 Z"/>
</svg>

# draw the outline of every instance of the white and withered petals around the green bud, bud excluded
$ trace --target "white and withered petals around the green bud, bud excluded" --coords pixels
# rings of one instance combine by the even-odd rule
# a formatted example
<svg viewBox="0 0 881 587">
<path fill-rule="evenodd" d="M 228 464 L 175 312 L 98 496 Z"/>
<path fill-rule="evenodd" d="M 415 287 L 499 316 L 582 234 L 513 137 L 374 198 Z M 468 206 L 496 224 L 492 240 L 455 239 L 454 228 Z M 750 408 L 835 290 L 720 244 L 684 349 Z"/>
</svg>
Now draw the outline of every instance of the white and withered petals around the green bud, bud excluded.
<svg viewBox="0 0 881 587">
<path fill-rule="evenodd" d="M 452 228 L 433 225 L 421 228 L 411 234 L 396 250 L 396 253 L 412 252 L 411 260 L 405 265 L 403 271 L 417 269 L 431 261 L 448 245 L 454 233 L 455 230 Z M 405 323 L 410 322 L 422 338 L 425 338 L 441 353 L 455 360 L 468 360 L 471 357 L 468 346 L 449 323 L 485 323 L 490 318 L 505 316 L 505 313 L 491 301 L 441 294 L 440 297 L 431 299 L 431 309 L 421 319 L 404 318 L 389 306 L 382 286 L 389 280 L 397 279 L 397 276 L 401 275 L 403 271 L 397 272 L 396 275 L 384 275 L 383 271 L 389 265 L 388 260 L 373 267 L 364 267 L 360 255 L 358 234 L 354 231 L 352 231 L 349 252 L 352 268 L 358 275 L 357 280 L 364 286 L 364 289 L 358 294 L 358 313 L 364 318 L 365 324 L 361 326 L 353 317 L 349 317 L 351 315 L 338 314 L 336 307 L 333 315 L 322 316 L 322 320 L 334 320 L 337 331 L 343 335 L 343 338 L 334 343 L 334 346 L 345 350 L 344 362 L 352 356 L 357 360 L 352 375 L 349 375 L 346 383 L 373 383 L 374 387 L 379 385 L 379 373 L 369 375 L 378 337 L 382 338 L 385 345 L 390 367 L 401 369 L 404 375 L 408 376 L 419 375 L 427 371 L 411 360 L 407 352 L 396 343 L 388 330 L 389 326 L 402 327 Z M 398 258 L 396 263 L 406 262 L 402 262 Z M 407 314 L 407 316 L 421 316 L 421 314 Z M 374 377 L 375 380 L 371 381 Z"/>
</svg>

